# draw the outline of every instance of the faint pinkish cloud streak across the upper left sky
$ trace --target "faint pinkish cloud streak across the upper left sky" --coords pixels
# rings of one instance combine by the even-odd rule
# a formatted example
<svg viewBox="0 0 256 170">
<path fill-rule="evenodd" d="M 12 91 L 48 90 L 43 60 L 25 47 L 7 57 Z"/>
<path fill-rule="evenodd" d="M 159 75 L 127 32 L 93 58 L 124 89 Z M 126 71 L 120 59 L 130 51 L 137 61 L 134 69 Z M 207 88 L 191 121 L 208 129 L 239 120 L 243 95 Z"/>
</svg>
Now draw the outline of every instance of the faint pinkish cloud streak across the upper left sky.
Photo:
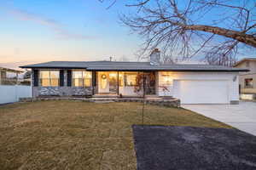
<svg viewBox="0 0 256 170">
<path fill-rule="evenodd" d="M 37 23 L 38 25 L 47 26 L 51 31 L 55 33 L 55 37 L 61 40 L 86 40 L 93 38 L 83 34 L 67 31 L 67 29 L 65 29 L 65 27 L 60 22 L 45 18 L 39 14 L 32 14 L 26 10 L 13 8 L 9 10 L 9 14 L 13 15 L 18 20 L 29 20 Z"/>
</svg>

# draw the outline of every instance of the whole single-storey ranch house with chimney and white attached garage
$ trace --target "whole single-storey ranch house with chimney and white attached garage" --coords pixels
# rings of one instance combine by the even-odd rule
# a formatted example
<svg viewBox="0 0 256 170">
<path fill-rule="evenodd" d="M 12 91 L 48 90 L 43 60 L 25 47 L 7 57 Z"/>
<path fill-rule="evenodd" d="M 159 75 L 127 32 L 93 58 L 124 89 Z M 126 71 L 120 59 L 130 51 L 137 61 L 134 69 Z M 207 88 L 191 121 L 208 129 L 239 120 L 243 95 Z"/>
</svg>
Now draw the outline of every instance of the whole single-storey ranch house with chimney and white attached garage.
<svg viewBox="0 0 256 170">
<path fill-rule="evenodd" d="M 137 76 L 148 75 L 148 95 L 172 96 L 182 104 L 238 104 L 238 74 L 246 69 L 218 65 L 160 65 L 150 62 L 52 61 L 32 69 L 32 96 L 138 96 Z"/>
</svg>

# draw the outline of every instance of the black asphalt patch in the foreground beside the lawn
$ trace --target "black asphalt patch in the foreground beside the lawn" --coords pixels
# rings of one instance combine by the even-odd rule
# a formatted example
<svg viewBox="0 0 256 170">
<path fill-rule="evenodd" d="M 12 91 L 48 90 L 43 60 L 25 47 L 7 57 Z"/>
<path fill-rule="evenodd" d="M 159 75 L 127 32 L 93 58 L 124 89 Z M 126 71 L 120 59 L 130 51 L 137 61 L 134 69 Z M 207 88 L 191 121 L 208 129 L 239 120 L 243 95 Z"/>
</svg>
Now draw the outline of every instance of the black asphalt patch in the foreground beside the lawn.
<svg viewBox="0 0 256 170">
<path fill-rule="evenodd" d="M 237 129 L 134 125 L 137 170 L 255 170 L 256 137 Z"/>
</svg>

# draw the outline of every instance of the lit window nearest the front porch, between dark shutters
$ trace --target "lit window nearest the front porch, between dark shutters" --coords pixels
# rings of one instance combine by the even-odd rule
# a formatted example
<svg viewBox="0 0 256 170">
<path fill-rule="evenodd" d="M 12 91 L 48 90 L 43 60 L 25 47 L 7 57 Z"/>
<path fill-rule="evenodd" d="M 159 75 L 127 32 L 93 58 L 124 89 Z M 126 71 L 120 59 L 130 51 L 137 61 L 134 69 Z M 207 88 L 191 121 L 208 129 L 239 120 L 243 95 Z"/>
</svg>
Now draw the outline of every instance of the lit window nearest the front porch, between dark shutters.
<svg viewBox="0 0 256 170">
<path fill-rule="evenodd" d="M 73 87 L 90 87 L 91 71 L 73 71 Z"/>
</svg>

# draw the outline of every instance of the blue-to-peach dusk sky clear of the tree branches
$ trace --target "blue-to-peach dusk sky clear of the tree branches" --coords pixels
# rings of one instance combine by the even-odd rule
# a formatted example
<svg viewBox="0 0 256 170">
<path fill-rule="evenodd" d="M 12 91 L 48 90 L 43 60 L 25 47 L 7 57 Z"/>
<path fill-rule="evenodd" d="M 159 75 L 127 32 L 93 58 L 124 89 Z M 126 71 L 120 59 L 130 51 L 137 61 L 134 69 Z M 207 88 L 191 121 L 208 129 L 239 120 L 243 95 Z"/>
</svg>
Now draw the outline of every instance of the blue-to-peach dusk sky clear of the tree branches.
<svg viewBox="0 0 256 170">
<path fill-rule="evenodd" d="M 121 26 L 123 1 L 1 0 L 0 66 L 51 60 L 136 60 L 143 40 Z M 241 57 L 253 57 L 256 53 Z"/>
</svg>

